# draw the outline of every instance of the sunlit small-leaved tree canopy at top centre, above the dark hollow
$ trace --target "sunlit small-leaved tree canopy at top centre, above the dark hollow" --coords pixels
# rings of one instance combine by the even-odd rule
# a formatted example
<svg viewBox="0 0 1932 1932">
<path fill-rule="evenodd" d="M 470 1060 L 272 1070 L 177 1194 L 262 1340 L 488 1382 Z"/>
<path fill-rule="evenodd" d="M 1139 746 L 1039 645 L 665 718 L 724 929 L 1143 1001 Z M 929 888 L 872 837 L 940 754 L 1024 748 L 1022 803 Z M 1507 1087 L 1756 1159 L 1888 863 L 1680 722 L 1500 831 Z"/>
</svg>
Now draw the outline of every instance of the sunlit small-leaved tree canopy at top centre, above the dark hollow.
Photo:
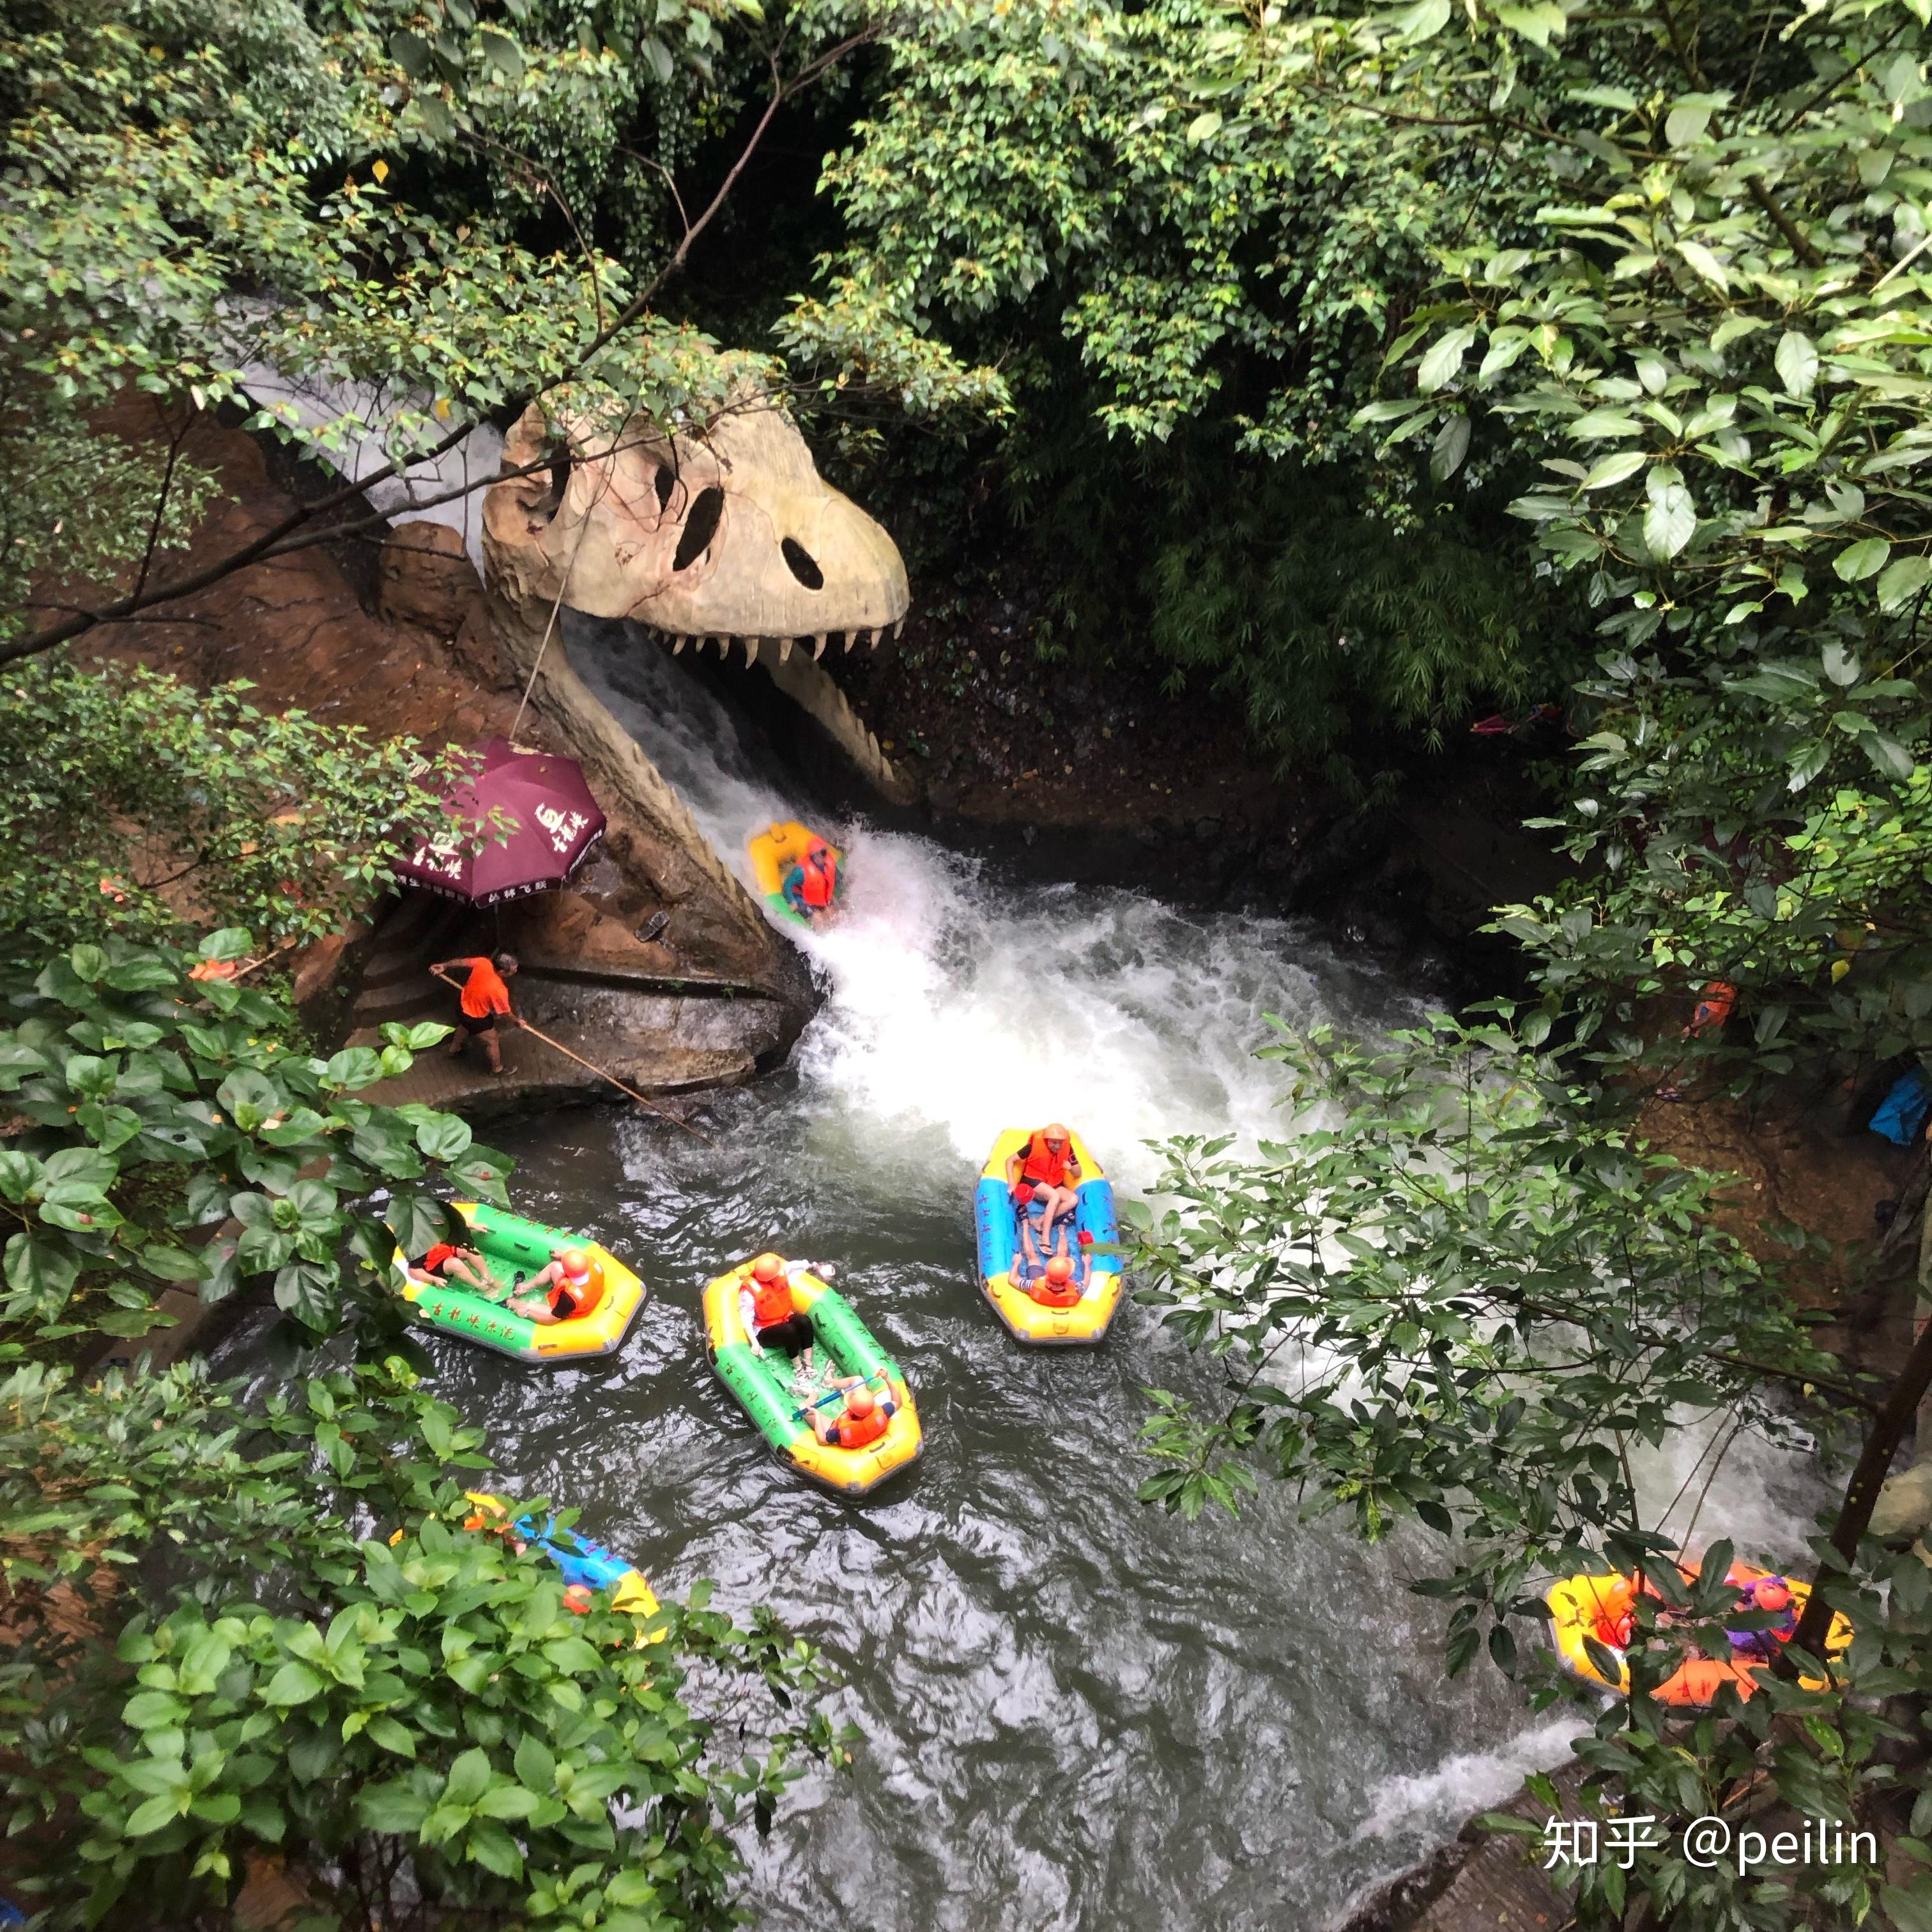
<svg viewBox="0 0 1932 1932">
<path fill-rule="evenodd" d="M 1057 327 L 1109 433 L 1221 415 L 1271 454 L 1360 448 L 1347 415 L 1391 299 L 1455 234 L 1482 156 L 1420 174 L 1320 95 L 1231 137 L 1233 114 L 1202 112 L 1223 19 L 1213 0 L 895 19 L 885 91 L 825 170 L 854 245 L 786 346 L 848 381 L 910 355 L 908 406 L 983 408 L 1012 394 L 1005 338 Z M 941 361 L 935 334 L 962 348 Z"/>
</svg>

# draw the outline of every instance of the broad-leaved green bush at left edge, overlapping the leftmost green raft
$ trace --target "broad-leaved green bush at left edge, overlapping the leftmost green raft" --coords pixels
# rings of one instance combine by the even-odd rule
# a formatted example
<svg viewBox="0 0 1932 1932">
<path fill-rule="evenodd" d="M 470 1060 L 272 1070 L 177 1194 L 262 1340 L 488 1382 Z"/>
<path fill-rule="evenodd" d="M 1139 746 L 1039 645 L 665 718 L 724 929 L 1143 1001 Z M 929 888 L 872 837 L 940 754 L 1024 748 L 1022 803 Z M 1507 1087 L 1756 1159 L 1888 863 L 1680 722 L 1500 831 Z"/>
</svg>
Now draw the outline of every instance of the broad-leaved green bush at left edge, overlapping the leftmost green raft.
<svg viewBox="0 0 1932 1932">
<path fill-rule="evenodd" d="M 0 1151 L 0 1356 L 143 1335 L 184 1285 L 220 1300 L 272 1283 L 284 1350 L 346 1306 L 381 1339 L 400 1329 L 396 1244 L 421 1254 L 454 1225 L 433 1188 L 504 1202 L 508 1161 L 454 1115 L 354 1097 L 448 1028 L 390 1024 L 381 1053 L 309 1059 L 276 999 L 195 978 L 247 951 L 238 929 L 199 954 L 79 945 L 0 1001 L 0 1095 L 21 1126 Z M 388 1229 L 352 1206 L 375 1188 Z"/>
</svg>

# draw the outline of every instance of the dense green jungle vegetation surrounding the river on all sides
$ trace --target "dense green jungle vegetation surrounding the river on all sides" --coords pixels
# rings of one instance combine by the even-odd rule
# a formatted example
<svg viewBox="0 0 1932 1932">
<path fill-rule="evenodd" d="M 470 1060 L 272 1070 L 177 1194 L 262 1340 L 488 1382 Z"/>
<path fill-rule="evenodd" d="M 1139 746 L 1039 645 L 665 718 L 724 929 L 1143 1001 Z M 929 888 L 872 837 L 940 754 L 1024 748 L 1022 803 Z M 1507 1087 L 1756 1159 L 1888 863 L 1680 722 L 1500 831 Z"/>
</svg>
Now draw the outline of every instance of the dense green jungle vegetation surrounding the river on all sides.
<svg viewBox="0 0 1932 1932">
<path fill-rule="evenodd" d="M 1690 1725 L 1644 1673 L 1578 1718 L 1592 1803 L 1663 1828 L 1567 1880 L 1584 1924 L 1932 1926 L 1924 1522 L 1880 1509 L 1932 1329 L 1889 1378 L 1822 1356 L 1803 1248 L 1714 1235 L 1716 1182 L 1633 1128 L 1660 1078 L 1822 1088 L 1932 1047 L 1926 58 L 1922 0 L 0 4 L 0 740 L 10 825 L 73 860 L 0 869 L 0 1690 L 50 1922 L 226 1924 L 278 1849 L 328 1922 L 719 1924 L 728 1818 L 842 1750 L 782 1710 L 719 1743 L 740 1681 L 810 1708 L 769 1623 L 694 1604 L 632 1650 L 452 1526 L 483 1445 L 413 1383 L 363 1204 L 388 1184 L 419 1252 L 431 1184 L 502 1163 L 354 1097 L 427 1037 L 311 1059 L 197 972 L 377 862 L 408 759 L 284 721 L 278 792 L 232 719 L 182 732 L 168 692 L 66 665 L 367 524 L 342 489 L 180 560 L 216 489 L 189 412 L 325 458 L 350 427 L 257 410 L 265 361 L 415 398 L 398 464 L 531 398 L 697 421 L 757 373 L 935 566 L 966 531 L 1036 572 L 1043 647 L 1231 692 L 1264 759 L 1399 765 L 1476 709 L 1571 707 L 1546 829 L 1582 864 L 1499 914 L 1534 999 L 1376 1051 L 1283 1037 L 1320 1124 L 1173 1150 L 1150 1294 L 1238 1387 L 1157 1405 L 1146 1493 L 1267 1474 L 1366 1536 L 1414 1517 L 1449 1663 L 1549 1696 L 1536 1578 L 1607 1559 L 1719 1609 L 1621 1437 L 1689 1405 L 1843 1443 L 1789 1667 Z M 129 396 L 160 433 L 93 433 Z M 160 835 L 205 848 L 213 937 L 97 885 L 128 844 L 70 852 L 91 786 L 135 821 L 195 798 Z M 313 891 L 242 852 L 249 817 Z M 1710 980 L 1737 1014 L 1683 1039 Z M 168 1285 L 263 1281 L 267 1399 L 71 1372 Z M 1832 1607 L 1859 1636 L 1828 1669 Z M 1743 1804 L 1872 1818 L 1891 1861 L 1687 1864 L 1667 1826 Z"/>
</svg>

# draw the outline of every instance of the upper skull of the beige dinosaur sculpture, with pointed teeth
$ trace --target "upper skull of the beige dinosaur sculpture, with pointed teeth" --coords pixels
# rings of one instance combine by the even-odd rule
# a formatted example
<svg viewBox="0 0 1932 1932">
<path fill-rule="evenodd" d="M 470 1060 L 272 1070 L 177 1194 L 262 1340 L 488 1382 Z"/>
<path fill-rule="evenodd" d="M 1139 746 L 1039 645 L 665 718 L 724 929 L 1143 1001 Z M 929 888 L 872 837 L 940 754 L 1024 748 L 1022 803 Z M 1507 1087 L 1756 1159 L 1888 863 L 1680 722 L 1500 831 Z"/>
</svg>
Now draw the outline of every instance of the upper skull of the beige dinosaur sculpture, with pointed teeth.
<svg viewBox="0 0 1932 1932">
<path fill-rule="evenodd" d="M 794 641 L 879 643 L 906 614 L 906 566 L 893 539 L 835 491 L 806 439 L 769 402 L 740 394 L 697 437 L 645 417 L 589 437 L 570 456 L 504 477 L 483 502 L 493 580 L 518 603 L 564 601 L 589 616 L 636 618 L 672 638 L 742 638 L 781 663 Z M 556 448 L 531 406 L 504 442 L 504 468 Z M 568 576 L 568 585 L 564 580 Z"/>
</svg>

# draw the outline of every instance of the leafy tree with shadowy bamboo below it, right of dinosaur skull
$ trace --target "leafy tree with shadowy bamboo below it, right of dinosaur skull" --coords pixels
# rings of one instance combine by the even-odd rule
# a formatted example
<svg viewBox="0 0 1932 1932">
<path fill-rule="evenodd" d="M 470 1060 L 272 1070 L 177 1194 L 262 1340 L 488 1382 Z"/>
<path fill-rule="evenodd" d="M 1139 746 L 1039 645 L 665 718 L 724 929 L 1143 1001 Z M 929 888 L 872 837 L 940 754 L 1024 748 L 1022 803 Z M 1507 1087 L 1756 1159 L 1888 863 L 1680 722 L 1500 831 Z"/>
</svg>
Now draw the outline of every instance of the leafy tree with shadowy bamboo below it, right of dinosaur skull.
<svg viewBox="0 0 1932 1932">
<path fill-rule="evenodd" d="M 1213 684 L 1283 759 L 1379 763 L 1376 734 L 1439 742 L 1571 663 L 1561 601 L 1499 562 L 1495 466 L 1443 491 L 1350 423 L 1484 160 L 1414 168 L 1318 93 L 1265 126 L 1204 112 L 1221 23 L 1211 0 L 900 15 L 825 172 L 854 242 L 781 340 L 918 413 L 1010 412 L 995 504 L 1057 645 Z"/>
</svg>

